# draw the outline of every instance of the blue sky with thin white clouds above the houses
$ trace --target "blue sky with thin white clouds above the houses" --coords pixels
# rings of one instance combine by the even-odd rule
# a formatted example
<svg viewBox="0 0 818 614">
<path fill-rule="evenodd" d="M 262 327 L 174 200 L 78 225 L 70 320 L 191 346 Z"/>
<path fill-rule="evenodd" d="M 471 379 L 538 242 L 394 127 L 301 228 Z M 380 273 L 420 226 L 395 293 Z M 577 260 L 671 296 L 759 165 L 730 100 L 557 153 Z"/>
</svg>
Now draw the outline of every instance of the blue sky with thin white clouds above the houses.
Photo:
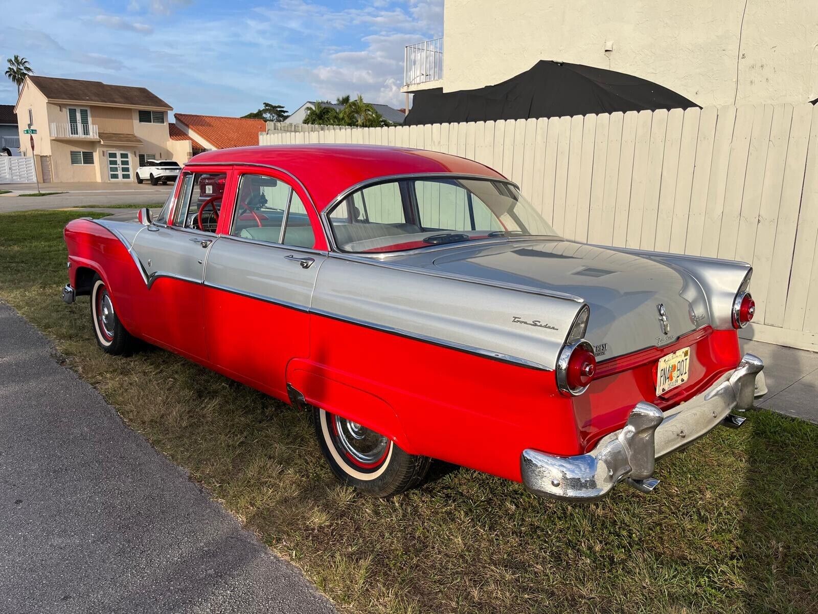
<svg viewBox="0 0 818 614">
<path fill-rule="evenodd" d="M 403 47 L 443 35 L 443 0 L 2 2 L 0 62 L 149 88 L 175 111 L 245 115 L 263 102 L 361 93 L 403 106 Z M 0 79 L 0 104 L 16 87 Z"/>
</svg>

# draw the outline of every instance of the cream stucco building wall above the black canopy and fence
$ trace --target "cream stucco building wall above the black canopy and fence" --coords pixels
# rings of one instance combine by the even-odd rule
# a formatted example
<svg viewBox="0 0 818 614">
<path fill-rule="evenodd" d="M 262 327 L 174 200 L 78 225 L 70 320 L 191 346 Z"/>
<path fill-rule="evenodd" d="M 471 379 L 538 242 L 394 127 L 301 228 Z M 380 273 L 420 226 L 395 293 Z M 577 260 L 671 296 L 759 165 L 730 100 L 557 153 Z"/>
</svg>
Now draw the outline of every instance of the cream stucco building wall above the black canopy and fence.
<svg viewBox="0 0 818 614">
<path fill-rule="evenodd" d="M 818 97 L 818 2 L 753 0 L 742 27 L 744 7 L 517 0 L 512 11 L 496 0 L 446 0 L 443 88 L 482 88 L 545 59 L 634 74 L 703 106 Z"/>
</svg>

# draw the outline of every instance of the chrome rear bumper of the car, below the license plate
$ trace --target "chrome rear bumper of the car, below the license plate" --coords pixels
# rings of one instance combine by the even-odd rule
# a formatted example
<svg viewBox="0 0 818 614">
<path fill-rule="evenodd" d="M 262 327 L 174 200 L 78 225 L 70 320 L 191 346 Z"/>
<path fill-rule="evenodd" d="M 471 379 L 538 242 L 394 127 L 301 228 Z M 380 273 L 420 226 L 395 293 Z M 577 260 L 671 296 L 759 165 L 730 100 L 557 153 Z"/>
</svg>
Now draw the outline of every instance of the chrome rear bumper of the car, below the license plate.
<svg viewBox="0 0 818 614">
<path fill-rule="evenodd" d="M 523 483 L 534 494 L 564 501 L 601 499 L 622 480 L 649 492 L 658 484 L 652 477 L 657 458 L 690 445 L 719 424 L 741 426 L 744 418 L 730 412 L 751 409 L 753 398 L 766 393 L 762 368 L 761 359 L 744 354 L 734 372 L 667 412 L 637 403 L 625 427 L 603 437 L 587 454 L 565 457 L 524 450 Z"/>
</svg>

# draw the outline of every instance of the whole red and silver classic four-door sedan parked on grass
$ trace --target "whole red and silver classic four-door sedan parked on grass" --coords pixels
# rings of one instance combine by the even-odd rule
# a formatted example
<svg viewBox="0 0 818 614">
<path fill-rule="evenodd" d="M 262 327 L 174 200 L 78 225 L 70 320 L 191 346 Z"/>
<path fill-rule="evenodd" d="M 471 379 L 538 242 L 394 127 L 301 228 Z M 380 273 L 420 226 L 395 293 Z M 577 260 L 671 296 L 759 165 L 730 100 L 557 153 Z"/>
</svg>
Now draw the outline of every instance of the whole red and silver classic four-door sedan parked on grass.
<svg viewBox="0 0 818 614">
<path fill-rule="evenodd" d="M 471 160 L 362 145 L 208 151 L 151 219 L 65 227 L 109 354 L 160 345 L 315 417 L 367 494 L 430 458 L 556 499 L 654 461 L 763 394 L 739 352 L 748 264 L 565 240 Z"/>
</svg>

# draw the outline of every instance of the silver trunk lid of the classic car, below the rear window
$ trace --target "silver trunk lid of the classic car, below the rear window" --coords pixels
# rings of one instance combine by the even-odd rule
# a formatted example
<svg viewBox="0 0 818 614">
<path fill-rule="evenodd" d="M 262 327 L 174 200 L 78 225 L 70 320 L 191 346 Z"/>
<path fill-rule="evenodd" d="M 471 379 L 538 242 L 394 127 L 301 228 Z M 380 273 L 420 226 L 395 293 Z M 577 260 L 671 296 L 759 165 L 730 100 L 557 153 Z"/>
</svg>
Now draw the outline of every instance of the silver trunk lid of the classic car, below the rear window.
<svg viewBox="0 0 818 614">
<path fill-rule="evenodd" d="M 419 252 L 406 260 L 442 273 L 581 296 L 591 307 L 586 339 L 598 360 L 669 345 L 710 323 L 703 291 L 690 273 L 604 247 L 525 240 Z"/>
</svg>

